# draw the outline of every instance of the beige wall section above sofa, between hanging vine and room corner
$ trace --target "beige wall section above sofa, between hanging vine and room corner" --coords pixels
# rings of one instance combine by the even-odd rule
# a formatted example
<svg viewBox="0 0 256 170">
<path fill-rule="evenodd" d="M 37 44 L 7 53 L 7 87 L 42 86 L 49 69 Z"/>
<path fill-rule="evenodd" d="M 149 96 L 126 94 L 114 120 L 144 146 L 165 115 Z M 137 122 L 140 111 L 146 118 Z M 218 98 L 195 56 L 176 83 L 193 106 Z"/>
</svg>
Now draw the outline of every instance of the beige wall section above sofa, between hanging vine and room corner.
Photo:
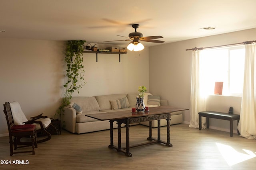
<svg viewBox="0 0 256 170">
<path fill-rule="evenodd" d="M 148 48 L 120 55 L 120 63 L 116 54 L 98 54 L 98 62 L 96 54 L 84 53 L 83 57 L 86 85 L 73 96 L 137 93 L 138 86 L 149 88 Z"/>
</svg>

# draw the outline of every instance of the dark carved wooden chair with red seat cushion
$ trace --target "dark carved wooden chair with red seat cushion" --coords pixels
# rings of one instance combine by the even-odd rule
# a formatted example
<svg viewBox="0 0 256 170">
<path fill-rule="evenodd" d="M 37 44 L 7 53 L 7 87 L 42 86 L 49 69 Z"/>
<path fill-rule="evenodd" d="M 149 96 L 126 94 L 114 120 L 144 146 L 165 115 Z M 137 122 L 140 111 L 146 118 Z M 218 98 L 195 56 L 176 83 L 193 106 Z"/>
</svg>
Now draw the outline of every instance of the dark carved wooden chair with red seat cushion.
<svg viewBox="0 0 256 170">
<path fill-rule="evenodd" d="M 12 111 L 9 103 L 4 104 L 4 114 L 6 117 L 7 125 L 8 125 L 8 131 L 9 131 L 9 143 L 10 143 L 10 156 L 17 153 L 26 153 L 26 152 L 32 152 L 32 154 L 35 154 L 34 148 L 37 148 L 37 139 L 36 139 L 36 125 L 14 125 L 13 117 L 12 117 Z M 30 151 L 20 151 L 20 152 L 14 152 L 17 148 L 22 147 L 28 147 L 31 145 L 25 145 L 25 146 L 18 146 L 17 139 L 20 139 L 22 137 L 30 137 L 31 138 L 31 145 L 32 150 Z M 14 150 L 13 150 L 14 145 Z"/>
</svg>

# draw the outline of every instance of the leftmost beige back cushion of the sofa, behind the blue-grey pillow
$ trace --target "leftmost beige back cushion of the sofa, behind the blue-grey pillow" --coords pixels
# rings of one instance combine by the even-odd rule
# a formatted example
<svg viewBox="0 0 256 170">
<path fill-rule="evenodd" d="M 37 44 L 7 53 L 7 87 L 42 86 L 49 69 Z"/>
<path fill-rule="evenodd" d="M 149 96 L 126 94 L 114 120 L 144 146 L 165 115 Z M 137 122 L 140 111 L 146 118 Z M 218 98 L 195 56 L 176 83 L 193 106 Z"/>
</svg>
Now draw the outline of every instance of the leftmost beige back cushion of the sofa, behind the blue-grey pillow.
<svg viewBox="0 0 256 170">
<path fill-rule="evenodd" d="M 100 111 L 100 106 L 94 97 L 72 97 L 71 102 L 78 104 L 83 112 Z"/>
</svg>

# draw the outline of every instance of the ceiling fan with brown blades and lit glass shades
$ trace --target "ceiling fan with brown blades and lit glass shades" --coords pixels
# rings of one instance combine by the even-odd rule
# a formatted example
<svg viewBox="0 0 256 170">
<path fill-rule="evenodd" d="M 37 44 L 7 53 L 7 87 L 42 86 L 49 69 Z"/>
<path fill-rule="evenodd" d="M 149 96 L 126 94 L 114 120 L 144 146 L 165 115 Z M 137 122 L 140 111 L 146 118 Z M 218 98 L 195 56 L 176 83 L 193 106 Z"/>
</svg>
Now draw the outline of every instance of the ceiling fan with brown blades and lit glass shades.
<svg viewBox="0 0 256 170">
<path fill-rule="evenodd" d="M 146 42 L 151 42 L 151 43 L 164 43 L 164 41 L 160 40 L 155 40 L 158 38 L 163 38 L 160 35 L 157 36 L 149 36 L 149 37 L 143 37 L 142 33 L 137 32 L 137 28 L 139 27 L 139 24 L 132 24 L 132 27 L 135 29 L 135 32 L 129 33 L 129 39 L 122 39 L 122 40 L 114 40 L 114 41 L 131 41 L 132 42 L 127 46 L 127 49 L 130 51 L 140 51 L 144 49 L 144 45 L 140 43 L 140 41 L 146 41 Z M 122 35 L 118 35 L 120 37 L 124 37 Z M 103 42 L 113 42 L 113 41 L 103 41 Z"/>
</svg>

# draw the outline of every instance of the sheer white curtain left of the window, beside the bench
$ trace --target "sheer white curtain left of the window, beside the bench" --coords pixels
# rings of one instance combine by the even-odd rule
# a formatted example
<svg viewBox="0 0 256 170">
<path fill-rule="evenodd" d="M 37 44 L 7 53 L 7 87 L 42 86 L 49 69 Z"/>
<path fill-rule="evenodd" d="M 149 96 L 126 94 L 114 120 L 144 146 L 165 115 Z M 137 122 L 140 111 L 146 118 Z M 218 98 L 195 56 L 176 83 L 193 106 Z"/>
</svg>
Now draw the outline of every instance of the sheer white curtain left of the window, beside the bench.
<svg viewBox="0 0 256 170">
<path fill-rule="evenodd" d="M 200 54 L 201 50 L 193 50 L 192 53 L 192 74 L 190 92 L 190 125 L 189 127 L 199 127 L 198 112 L 205 111 L 205 98 L 200 88 Z M 202 117 L 202 129 L 206 128 L 206 118 Z"/>
</svg>

